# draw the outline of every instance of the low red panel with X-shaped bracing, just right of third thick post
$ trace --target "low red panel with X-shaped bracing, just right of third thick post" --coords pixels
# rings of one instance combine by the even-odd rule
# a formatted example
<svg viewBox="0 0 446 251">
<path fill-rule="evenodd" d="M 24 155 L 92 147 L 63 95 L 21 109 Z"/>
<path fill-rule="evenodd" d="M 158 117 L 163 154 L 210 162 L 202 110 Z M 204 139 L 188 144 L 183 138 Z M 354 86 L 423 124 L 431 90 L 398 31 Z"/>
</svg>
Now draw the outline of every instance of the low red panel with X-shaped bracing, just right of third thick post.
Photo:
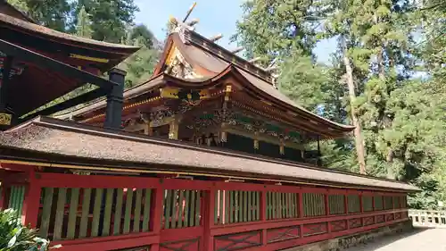
<svg viewBox="0 0 446 251">
<path fill-rule="evenodd" d="M 214 237 L 215 251 L 240 250 L 261 246 L 261 230 Z"/>
</svg>

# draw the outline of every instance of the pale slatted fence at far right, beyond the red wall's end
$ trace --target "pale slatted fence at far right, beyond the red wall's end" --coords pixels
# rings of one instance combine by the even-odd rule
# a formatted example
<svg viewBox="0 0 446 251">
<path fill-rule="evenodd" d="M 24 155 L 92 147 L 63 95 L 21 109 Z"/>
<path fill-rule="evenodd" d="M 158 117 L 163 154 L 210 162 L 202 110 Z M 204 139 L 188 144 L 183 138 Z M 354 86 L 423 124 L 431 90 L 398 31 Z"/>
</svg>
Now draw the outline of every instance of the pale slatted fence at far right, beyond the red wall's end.
<svg viewBox="0 0 446 251">
<path fill-rule="evenodd" d="M 446 228 L 446 211 L 409 210 L 414 227 Z"/>
</svg>

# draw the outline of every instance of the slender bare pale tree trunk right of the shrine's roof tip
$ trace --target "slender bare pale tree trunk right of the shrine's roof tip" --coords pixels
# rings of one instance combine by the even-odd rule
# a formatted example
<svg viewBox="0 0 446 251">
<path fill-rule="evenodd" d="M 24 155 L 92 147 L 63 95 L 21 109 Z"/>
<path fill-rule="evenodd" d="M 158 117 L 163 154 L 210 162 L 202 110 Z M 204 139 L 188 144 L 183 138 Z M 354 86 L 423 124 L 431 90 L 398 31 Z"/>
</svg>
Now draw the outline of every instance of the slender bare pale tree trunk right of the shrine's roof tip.
<svg viewBox="0 0 446 251">
<path fill-rule="evenodd" d="M 356 110 L 353 105 L 356 99 L 355 93 L 355 84 L 353 81 L 353 71 L 351 69 L 350 58 L 347 56 L 347 53 L 343 54 L 343 63 L 345 64 L 345 72 L 347 76 L 347 86 L 349 87 L 349 96 L 350 96 L 350 105 L 351 105 L 351 121 L 355 130 L 353 131 L 355 135 L 355 146 L 356 146 L 356 155 L 358 156 L 359 163 L 359 173 L 366 174 L 366 161 L 365 161 L 365 148 L 364 148 L 364 140 L 361 134 L 361 126 L 359 123 L 358 116 L 356 115 Z"/>
</svg>

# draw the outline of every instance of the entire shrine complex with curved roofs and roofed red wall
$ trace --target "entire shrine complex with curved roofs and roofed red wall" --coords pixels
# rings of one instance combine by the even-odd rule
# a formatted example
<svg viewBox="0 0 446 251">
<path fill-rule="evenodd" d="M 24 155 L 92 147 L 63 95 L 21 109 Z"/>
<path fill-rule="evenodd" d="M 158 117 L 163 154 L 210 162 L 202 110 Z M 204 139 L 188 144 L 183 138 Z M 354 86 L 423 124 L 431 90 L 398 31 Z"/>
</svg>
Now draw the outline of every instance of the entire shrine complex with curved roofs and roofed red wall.
<svg viewBox="0 0 446 251">
<path fill-rule="evenodd" d="M 62 251 L 285 250 L 409 223 L 418 188 L 324 168 L 319 142 L 353 127 L 215 39 L 178 23 L 153 76 L 124 90 L 115 67 L 138 47 L 0 1 L 0 208 Z"/>
</svg>

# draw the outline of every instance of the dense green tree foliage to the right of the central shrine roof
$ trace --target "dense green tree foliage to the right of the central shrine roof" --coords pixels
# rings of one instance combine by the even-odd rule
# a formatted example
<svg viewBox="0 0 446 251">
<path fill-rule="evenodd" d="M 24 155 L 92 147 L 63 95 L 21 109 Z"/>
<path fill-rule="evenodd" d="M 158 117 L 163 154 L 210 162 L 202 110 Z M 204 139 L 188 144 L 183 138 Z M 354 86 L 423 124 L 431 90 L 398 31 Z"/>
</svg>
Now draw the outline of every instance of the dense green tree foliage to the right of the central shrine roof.
<svg viewBox="0 0 446 251">
<path fill-rule="evenodd" d="M 351 62 L 369 175 L 423 189 L 415 208 L 446 202 L 446 4 L 396 0 L 246 1 L 235 39 L 264 64 L 279 57 L 279 88 L 327 118 L 350 121 L 343 57 Z M 318 24 L 318 29 L 314 29 Z M 414 34 L 423 38 L 415 43 Z M 421 36 L 420 36 L 421 35 Z M 332 67 L 313 63 L 319 38 L 338 38 Z M 428 79 L 415 79 L 414 72 Z M 351 139 L 321 144 L 323 163 L 358 172 Z M 310 146 L 314 147 L 314 146 Z"/>
</svg>

